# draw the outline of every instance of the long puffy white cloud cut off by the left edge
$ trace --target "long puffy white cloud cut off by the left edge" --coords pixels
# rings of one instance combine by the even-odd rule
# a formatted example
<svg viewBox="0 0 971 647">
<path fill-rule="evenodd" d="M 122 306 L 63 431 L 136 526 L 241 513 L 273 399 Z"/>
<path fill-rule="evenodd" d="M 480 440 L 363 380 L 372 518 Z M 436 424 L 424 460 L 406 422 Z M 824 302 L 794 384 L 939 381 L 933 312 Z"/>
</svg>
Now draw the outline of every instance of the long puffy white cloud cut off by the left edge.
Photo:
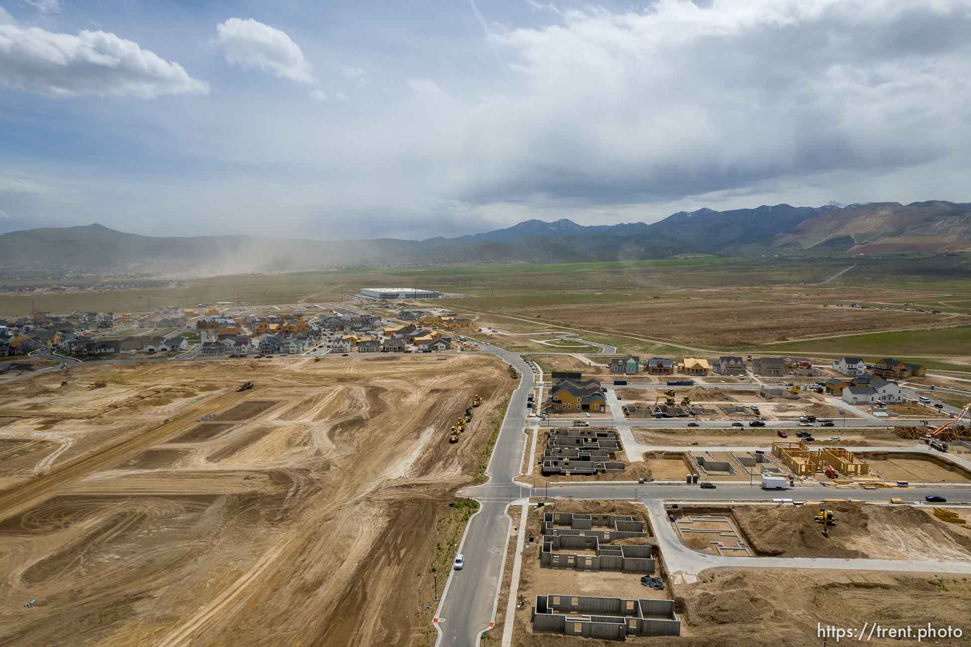
<svg viewBox="0 0 971 647">
<path fill-rule="evenodd" d="M 151 99 L 206 94 L 182 65 L 104 31 L 77 36 L 0 24 L 0 85 L 50 97 L 84 94 Z"/>
</svg>

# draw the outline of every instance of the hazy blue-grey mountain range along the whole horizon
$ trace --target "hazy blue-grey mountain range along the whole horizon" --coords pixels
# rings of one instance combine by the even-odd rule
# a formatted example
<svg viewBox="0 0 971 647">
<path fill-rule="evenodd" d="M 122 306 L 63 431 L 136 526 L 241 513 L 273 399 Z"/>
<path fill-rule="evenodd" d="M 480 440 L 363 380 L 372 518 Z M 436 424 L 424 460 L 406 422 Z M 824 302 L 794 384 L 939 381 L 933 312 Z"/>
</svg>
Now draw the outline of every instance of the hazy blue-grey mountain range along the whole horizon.
<svg viewBox="0 0 971 647">
<path fill-rule="evenodd" d="M 457 238 L 315 241 L 152 237 L 100 224 L 0 235 L 0 269 L 229 274 L 339 266 L 636 260 L 773 252 L 971 251 L 971 203 L 946 201 L 679 212 L 651 224 L 523 221 Z"/>
</svg>

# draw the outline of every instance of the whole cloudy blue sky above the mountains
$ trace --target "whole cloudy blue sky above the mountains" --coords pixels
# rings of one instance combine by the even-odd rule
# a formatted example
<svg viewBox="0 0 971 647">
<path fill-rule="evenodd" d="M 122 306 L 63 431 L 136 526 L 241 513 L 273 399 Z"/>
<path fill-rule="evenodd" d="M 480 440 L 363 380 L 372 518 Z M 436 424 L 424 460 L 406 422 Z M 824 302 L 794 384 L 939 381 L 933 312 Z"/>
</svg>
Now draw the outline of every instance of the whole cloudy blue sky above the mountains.
<svg viewBox="0 0 971 647">
<path fill-rule="evenodd" d="M 971 0 L 0 0 L 0 232 L 971 200 Z"/>
</svg>

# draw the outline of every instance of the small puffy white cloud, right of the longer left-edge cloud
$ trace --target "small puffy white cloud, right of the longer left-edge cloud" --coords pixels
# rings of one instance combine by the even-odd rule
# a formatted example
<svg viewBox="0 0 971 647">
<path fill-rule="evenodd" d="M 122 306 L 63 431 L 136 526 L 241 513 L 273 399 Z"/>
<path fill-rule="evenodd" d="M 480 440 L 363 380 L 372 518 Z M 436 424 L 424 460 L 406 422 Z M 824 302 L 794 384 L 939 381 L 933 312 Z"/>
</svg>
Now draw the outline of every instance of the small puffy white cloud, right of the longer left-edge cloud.
<svg viewBox="0 0 971 647">
<path fill-rule="evenodd" d="M 300 84 L 316 83 L 313 66 L 285 31 L 238 17 L 219 23 L 216 30 L 218 46 L 227 62 Z"/>
</svg>

